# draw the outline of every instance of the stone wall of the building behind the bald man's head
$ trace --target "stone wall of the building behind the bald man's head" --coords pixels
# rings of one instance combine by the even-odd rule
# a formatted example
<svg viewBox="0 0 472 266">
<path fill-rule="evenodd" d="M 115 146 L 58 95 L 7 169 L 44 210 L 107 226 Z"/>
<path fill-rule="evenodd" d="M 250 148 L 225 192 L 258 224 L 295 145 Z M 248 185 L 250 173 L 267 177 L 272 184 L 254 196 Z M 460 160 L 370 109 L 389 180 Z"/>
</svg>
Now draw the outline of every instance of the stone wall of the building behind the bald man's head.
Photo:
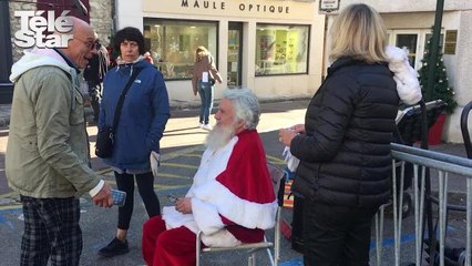
<svg viewBox="0 0 472 266">
<path fill-rule="evenodd" d="M 35 2 L 32 1 L 32 2 Z M 102 44 L 107 45 L 110 43 L 110 37 L 113 30 L 112 19 L 112 4 L 113 0 L 90 0 L 90 24 L 99 34 L 99 39 Z M 23 55 L 23 48 L 19 48 L 14 44 L 14 32 L 20 30 L 20 19 L 14 17 L 16 10 L 35 10 L 37 7 L 33 3 L 21 3 L 21 2 L 9 2 L 10 7 L 10 32 L 11 32 L 11 45 L 13 62 L 17 62 Z"/>
</svg>

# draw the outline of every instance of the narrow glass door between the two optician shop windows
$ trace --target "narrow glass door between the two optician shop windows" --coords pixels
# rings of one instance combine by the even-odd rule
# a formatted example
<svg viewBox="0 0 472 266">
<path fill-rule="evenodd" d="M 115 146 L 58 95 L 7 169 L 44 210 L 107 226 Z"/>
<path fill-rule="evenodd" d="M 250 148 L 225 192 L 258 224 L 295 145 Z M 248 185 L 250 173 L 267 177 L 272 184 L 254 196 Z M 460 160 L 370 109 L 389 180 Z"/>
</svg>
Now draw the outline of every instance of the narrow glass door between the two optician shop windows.
<svg viewBox="0 0 472 266">
<path fill-rule="evenodd" d="M 228 88 L 242 85 L 243 23 L 229 22 L 228 27 Z"/>
</svg>

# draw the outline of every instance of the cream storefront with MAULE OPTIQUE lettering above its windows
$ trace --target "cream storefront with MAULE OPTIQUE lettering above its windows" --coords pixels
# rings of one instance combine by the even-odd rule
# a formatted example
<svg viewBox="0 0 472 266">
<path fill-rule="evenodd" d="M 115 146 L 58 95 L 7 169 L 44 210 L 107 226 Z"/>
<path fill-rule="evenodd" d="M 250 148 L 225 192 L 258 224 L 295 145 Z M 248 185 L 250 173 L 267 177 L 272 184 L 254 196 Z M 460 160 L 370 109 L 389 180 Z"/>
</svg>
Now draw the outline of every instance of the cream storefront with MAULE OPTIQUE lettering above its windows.
<svg viewBox="0 0 472 266">
<path fill-rule="evenodd" d="M 143 30 L 174 104 L 199 101 L 191 85 L 199 45 L 224 79 L 216 98 L 224 88 L 249 88 L 263 100 L 307 98 L 321 82 L 325 16 L 315 1 L 121 0 L 116 28 L 126 25 Z"/>
</svg>

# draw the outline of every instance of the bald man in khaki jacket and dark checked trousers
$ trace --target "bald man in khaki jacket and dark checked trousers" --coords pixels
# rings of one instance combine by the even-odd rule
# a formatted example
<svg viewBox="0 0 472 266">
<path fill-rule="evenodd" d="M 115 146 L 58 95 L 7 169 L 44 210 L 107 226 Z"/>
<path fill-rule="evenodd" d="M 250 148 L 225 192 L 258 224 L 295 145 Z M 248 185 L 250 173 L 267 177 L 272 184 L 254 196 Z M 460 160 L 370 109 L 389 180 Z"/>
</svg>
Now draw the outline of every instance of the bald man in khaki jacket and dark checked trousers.
<svg viewBox="0 0 472 266">
<path fill-rule="evenodd" d="M 95 50 L 92 29 L 71 18 L 66 48 L 24 52 L 14 82 L 6 155 L 9 186 L 20 194 L 24 233 L 20 265 L 79 265 L 82 232 L 78 196 L 113 204 L 110 186 L 90 167 L 79 69 Z"/>
</svg>

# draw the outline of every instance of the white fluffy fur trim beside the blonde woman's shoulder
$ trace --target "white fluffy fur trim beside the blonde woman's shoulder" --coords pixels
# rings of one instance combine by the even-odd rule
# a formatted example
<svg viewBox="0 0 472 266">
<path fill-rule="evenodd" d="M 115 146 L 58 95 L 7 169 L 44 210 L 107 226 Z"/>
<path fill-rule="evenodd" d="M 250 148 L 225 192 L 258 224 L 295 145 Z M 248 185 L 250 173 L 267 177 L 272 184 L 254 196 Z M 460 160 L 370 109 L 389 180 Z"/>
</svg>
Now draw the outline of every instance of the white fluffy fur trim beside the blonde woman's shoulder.
<svg viewBox="0 0 472 266">
<path fill-rule="evenodd" d="M 398 47 L 388 45 L 386 53 L 389 69 L 394 74 L 393 80 L 397 82 L 400 100 L 409 105 L 418 103 L 422 98 L 421 88 L 417 71 L 408 62 L 408 52 Z"/>
</svg>

